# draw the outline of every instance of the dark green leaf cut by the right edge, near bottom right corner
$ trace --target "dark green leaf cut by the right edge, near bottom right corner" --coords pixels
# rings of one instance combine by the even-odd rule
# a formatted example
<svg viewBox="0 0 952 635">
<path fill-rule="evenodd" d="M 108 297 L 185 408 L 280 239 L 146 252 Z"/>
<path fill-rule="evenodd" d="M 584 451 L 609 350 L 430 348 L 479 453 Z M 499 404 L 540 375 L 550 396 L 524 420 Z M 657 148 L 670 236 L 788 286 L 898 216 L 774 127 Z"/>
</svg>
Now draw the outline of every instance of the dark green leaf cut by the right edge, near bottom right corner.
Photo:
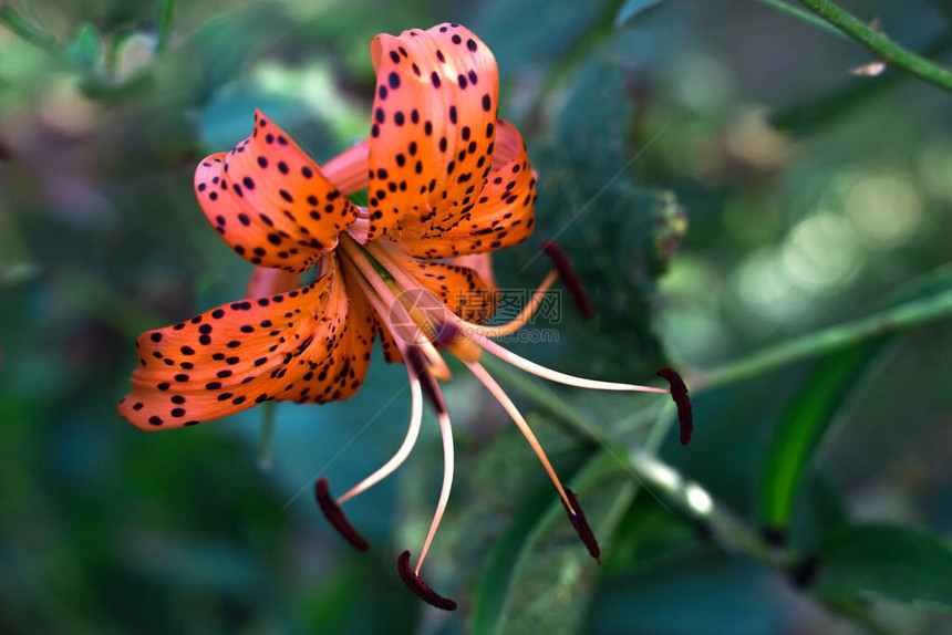
<svg viewBox="0 0 952 635">
<path fill-rule="evenodd" d="M 816 591 L 828 597 L 873 595 L 952 612 L 952 546 L 922 531 L 850 525 L 818 554 Z"/>
</svg>

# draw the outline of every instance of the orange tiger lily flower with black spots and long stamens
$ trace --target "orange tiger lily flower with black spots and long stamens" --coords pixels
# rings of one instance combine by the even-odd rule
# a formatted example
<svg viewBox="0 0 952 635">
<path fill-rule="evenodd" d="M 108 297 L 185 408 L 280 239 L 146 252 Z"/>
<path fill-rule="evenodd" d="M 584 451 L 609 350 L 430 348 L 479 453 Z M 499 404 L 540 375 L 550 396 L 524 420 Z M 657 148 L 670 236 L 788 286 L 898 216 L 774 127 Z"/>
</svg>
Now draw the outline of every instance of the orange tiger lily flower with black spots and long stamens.
<svg viewBox="0 0 952 635">
<path fill-rule="evenodd" d="M 557 278 L 581 294 L 568 260 L 547 243 L 556 268 L 522 314 L 509 324 L 484 325 L 495 299 L 489 252 L 531 233 L 536 200 L 522 138 L 496 117 L 495 59 L 458 24 L 380 34 L 371 56 L 376 89 L 366 140 L 319 166 L 256 112 L 248 138 L 198 166 L 195 192 L 203 211 L 221 238 L 257 266 L 248 296 L 144 333 L 136 342 L 132 391 L 118 410 L 139 428 L 158 430 L 272 399 L 346 399 L 361 387 L 379 337 L 384 358 L 406 366 L 412 398 L 406 437 L 393 458 L 342 496 L 333 499 L 324 479 L 315 496 L 344 538 L 366 549 L 340 506 L 404 461 L 428 402 L 443 436 L 443 487 L 415 568 L 406 551 L 399 571 L 423 600 L 452 610 L 455 603 L 420 576 L 453 480 L 449 410 L 439 388 L 451 376 L 445 353 L 463 362 L 526 436 L 596 558 L 599 546 L 578 501 L 480 355 L 573 386 L 683 393 L 685 403 L 686 391 L 573 377 L 493 341 L 524 325 Z M 364 189 L 366 207 L 348 198 Z M 301 287 L 306 272 L 310 282 Z"/>
</svg>

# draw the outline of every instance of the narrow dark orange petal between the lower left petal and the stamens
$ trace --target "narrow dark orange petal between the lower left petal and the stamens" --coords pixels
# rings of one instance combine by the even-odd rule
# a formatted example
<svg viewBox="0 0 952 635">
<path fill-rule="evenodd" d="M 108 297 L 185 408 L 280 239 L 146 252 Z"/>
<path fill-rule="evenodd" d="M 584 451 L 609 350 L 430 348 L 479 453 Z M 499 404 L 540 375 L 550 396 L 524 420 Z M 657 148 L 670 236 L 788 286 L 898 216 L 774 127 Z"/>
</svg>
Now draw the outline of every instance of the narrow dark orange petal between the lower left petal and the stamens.
<svg viewBox="0 0 952 635">
<path fill-rule="evenodd" d="M 278 393 L 277 399 L 301 404 L 340 402 L 352 397 L 363 384 L 373 352 L 373 310 L 353 280 L 351 271 L 343 269 L 342 273 L 343 280 L 339 279 L 338 284 L 344 284 L 348 316 L 338 344 L 331 351 L 330 357 L 321 364 L 304 358 L 292 362 L 301 366 L 303 375 L 300 375 L 300 379 L 293 385 Z"/>
</svg>

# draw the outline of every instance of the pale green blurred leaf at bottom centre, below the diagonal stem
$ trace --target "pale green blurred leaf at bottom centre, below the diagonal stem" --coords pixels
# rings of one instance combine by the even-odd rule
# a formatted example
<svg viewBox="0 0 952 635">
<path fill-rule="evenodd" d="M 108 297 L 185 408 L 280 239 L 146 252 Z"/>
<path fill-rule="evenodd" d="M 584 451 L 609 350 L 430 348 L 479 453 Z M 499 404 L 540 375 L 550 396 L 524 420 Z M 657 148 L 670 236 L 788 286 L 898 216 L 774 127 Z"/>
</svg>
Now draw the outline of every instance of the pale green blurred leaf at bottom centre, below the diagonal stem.
<svg viewBox="0 0 952 635">
<path fill-rule="evenodd" d="M 609 451 L 597 454 L 570 483 L 604 548 L 637 491 Z M 493 548 L 479 584 L 473 632 L 575 633 L 599 571 L 579 541 L 560 500 L 545 513 L 526 506 Z M 535 523 L 532 524 L 532 522 Z"/>
</svg>

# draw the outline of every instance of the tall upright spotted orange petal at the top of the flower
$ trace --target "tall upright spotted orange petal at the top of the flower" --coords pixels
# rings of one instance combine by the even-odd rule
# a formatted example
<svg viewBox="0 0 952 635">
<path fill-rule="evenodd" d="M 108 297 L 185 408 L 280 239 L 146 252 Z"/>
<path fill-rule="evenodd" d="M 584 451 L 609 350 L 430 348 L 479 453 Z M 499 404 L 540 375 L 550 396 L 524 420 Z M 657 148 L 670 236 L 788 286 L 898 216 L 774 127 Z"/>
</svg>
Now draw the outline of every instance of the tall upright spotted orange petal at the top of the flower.
<svg viewBox="0 0 952 635">
<path fill-rule="evenodd" d="M 479 195 L 496 135 L 498 73 L 465 27 L 382 33 L 371 42 L 369 239 L 413 214 L 451 227 Z"/>
</svg>

